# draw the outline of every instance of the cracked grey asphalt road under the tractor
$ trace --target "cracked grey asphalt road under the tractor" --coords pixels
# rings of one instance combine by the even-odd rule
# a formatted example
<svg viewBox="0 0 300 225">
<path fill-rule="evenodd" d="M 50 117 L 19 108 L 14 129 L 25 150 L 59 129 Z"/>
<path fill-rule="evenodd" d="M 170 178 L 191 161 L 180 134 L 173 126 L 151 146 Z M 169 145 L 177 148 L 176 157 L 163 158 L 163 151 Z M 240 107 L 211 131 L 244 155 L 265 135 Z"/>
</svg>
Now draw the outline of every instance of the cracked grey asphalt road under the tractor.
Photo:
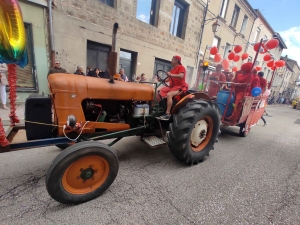
<svg viewBox="0 0 300 225">
<path fill-rule="evenodd" d="M 230 128 L 203 163 L 132 137 L 114 145 L 119 174 L 99 198 L 51 199 L 45 174 L 60 150 L 0 154 L 0 224 L 300 224 L 300 111 L 270 106 L 248 137 Z"/>
</svg>

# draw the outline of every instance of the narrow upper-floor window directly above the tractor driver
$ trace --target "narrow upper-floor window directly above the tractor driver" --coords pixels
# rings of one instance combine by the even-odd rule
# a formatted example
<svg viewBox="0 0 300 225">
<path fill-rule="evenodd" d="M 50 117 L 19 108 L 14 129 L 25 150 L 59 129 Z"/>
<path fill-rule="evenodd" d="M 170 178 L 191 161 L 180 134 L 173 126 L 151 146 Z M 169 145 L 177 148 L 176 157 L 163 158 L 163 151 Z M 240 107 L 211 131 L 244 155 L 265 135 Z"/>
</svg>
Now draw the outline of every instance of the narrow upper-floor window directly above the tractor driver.
<svg viewBox="0 0 300 225">
<path fill-rule="evenodd" d="M 180 1 L 175 0 L 173 13 L 172 13 L 172 22 L 170 27 L 170 34 L 182 38 L 183 36 L 183 25 L 185 12 L 187 11 L 187 5 L 182 4 Z"/>
</svg>

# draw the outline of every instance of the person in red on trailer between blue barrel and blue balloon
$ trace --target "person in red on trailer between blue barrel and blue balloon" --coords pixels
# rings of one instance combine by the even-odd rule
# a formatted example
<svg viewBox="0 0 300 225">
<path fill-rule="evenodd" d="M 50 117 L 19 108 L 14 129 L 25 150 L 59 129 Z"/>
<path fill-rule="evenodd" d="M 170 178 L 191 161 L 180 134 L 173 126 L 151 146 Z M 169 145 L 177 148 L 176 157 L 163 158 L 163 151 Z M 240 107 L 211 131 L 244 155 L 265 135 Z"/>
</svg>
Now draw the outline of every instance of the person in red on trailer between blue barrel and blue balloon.
<svg viewBox="0 0 300 225">
<path fill-rule="evenodd" d="M 253 80 L 253 76 L 251 73 L 253 64 L 251 62 L 244 63 L 241 67 L 241 70 L 236 72 L 236 76 L 234 78 L 234 92 L 235 92 L 235 101 L 234 101 L 234 110 L 231 116 L 227 117 L 228 120 L 232 120 L 236 113 L 236 109 L 238 107 L 239 102 L 243 100 L 244 96 L 248 96 L 250 94 L 250 88 Z M 250 84 L 250 85 L 249 85 Z M 245 92 L 246 89 L 246 92 Z"/>
</svg>

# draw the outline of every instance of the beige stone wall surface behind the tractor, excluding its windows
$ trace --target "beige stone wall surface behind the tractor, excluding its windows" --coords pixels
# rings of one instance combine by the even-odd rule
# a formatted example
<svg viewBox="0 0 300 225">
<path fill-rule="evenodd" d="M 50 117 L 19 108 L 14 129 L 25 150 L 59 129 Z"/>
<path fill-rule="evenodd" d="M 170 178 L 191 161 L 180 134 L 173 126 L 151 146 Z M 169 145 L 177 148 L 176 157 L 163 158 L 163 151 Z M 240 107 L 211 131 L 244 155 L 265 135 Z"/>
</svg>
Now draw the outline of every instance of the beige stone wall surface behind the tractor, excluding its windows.
<svg viewBox="0 0 300 225">
<path fill-rule="evenodd" d="M 111 45 L 113 24 L 117 22 L 116 50 L 120 53 L 122 48 L 137 53 L 136 74 L 146 73 L 149 79 L 155 58 L 170 61 L 177 54 L 182 57 L 184 66 L 195 68 L 203 6 L 197 0 L 185 2 L 189 4 L 185 37 L 178 38 L 169 32 L 174 0 L 160 0 L 157 26 L 136 18 L 136 0 L 115 0 L 114 8 L 98 0 L 54 1 L 56 58 L 71 73 L 77 65 L 88 66 L 87 41 Z"/>
</svg>

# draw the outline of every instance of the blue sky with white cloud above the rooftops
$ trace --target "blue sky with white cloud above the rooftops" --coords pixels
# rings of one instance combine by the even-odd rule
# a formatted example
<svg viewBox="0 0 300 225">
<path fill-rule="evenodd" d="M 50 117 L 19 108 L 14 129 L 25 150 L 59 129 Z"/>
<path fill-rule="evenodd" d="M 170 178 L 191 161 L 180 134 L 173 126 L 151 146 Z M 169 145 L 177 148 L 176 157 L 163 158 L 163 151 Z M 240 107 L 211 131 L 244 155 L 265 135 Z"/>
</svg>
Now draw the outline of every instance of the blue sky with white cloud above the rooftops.
<svg viewBox="0 0 300 225">
<path fill-rule="evenodd" d="M 275 32 L 280 33 L 288 55 L 300 65 L 300 0 L 248 0 L 259 9 Z"/>
</svg>

